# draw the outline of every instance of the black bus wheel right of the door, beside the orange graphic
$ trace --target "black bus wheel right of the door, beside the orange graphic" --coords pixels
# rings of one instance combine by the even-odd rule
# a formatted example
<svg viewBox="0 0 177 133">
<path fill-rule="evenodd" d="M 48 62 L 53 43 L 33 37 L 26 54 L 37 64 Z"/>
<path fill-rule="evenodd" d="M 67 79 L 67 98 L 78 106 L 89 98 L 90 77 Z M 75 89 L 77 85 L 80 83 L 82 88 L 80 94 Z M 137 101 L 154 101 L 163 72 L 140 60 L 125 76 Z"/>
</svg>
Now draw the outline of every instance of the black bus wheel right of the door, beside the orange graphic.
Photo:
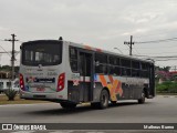
<svg viewBox="0 0 177 133">
<path fill-rule="evenodd" d="M 98 106 L 100 109 L 106 109 L 108 106 L 108 92 L 106 90 L 102 90 Z"/>
</svg>

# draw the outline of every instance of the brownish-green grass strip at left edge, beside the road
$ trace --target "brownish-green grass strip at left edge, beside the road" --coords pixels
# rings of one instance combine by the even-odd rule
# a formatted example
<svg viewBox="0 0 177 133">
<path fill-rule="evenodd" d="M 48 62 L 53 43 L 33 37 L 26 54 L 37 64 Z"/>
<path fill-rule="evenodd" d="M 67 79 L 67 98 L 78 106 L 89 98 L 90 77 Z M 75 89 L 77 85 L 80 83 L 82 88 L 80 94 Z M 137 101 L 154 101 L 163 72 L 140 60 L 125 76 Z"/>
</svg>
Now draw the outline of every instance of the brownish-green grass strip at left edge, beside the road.
<svg viewBox="0 0 177 133">
<path fill-rule="evenodd" d="M 49 103 L 49 102 L 40 101 L 40 100 L 23 100 L 23 99 L 20 99 L 19 95 L 14 98 L 14 101 L 9 101 L 6 95 L 0 95 L 0 105 L 3 105 L 3 104 L 34 104 L 34 103 Z"/>
</svg>

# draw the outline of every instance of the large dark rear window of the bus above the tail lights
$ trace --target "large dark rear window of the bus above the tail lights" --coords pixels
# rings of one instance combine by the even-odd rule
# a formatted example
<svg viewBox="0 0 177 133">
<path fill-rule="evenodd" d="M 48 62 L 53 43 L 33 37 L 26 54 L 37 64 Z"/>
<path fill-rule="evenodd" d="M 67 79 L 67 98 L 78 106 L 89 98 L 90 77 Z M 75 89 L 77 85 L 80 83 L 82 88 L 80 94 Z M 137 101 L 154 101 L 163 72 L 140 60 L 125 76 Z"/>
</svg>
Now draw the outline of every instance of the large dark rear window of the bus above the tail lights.
<svg viewBox="0 0 177 133">
<path fill-rule="evenodd" d="M 32 41 L 22 47 L 22 64 L 24 65 L 56 65 L 62 62 L 62 42 Z"/>
</svg>

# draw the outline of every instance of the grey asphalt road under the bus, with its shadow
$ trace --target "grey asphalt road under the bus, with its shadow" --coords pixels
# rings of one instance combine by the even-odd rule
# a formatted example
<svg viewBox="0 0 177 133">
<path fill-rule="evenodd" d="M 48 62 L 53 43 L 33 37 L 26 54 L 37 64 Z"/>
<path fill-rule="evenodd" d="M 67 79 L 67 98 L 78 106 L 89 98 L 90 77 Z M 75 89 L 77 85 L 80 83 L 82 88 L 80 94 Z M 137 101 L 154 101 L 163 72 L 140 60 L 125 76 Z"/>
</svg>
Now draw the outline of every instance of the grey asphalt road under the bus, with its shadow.
<svg viewBox="0 0 177 133">
<path fill-rule="evenodd" d="M 75 110 L 63 110 L 59 103 L 0 105 L 0 123 L 177 123 L 177 98 L 157 96 L 145 104 L 124 101 L 106 110 L 90 104 Z"/>
</svg>

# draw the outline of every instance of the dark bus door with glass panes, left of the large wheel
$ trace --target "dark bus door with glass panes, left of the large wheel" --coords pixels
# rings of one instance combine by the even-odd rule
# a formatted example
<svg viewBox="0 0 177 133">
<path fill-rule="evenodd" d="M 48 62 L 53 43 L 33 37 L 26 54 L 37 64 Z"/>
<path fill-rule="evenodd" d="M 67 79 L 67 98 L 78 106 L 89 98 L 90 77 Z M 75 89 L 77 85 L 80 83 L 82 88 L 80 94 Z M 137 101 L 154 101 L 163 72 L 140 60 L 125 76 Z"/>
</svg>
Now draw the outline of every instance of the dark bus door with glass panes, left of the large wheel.
<svg viewBox="0 0 177 133">
<path fill-rule="evenodd" d="M 80 101 L 87 102 L 93 99 L 93 54 L 87 52 L 79 52 L 79 71 L 81 75 L 80 82 Z"/>
</svg>

